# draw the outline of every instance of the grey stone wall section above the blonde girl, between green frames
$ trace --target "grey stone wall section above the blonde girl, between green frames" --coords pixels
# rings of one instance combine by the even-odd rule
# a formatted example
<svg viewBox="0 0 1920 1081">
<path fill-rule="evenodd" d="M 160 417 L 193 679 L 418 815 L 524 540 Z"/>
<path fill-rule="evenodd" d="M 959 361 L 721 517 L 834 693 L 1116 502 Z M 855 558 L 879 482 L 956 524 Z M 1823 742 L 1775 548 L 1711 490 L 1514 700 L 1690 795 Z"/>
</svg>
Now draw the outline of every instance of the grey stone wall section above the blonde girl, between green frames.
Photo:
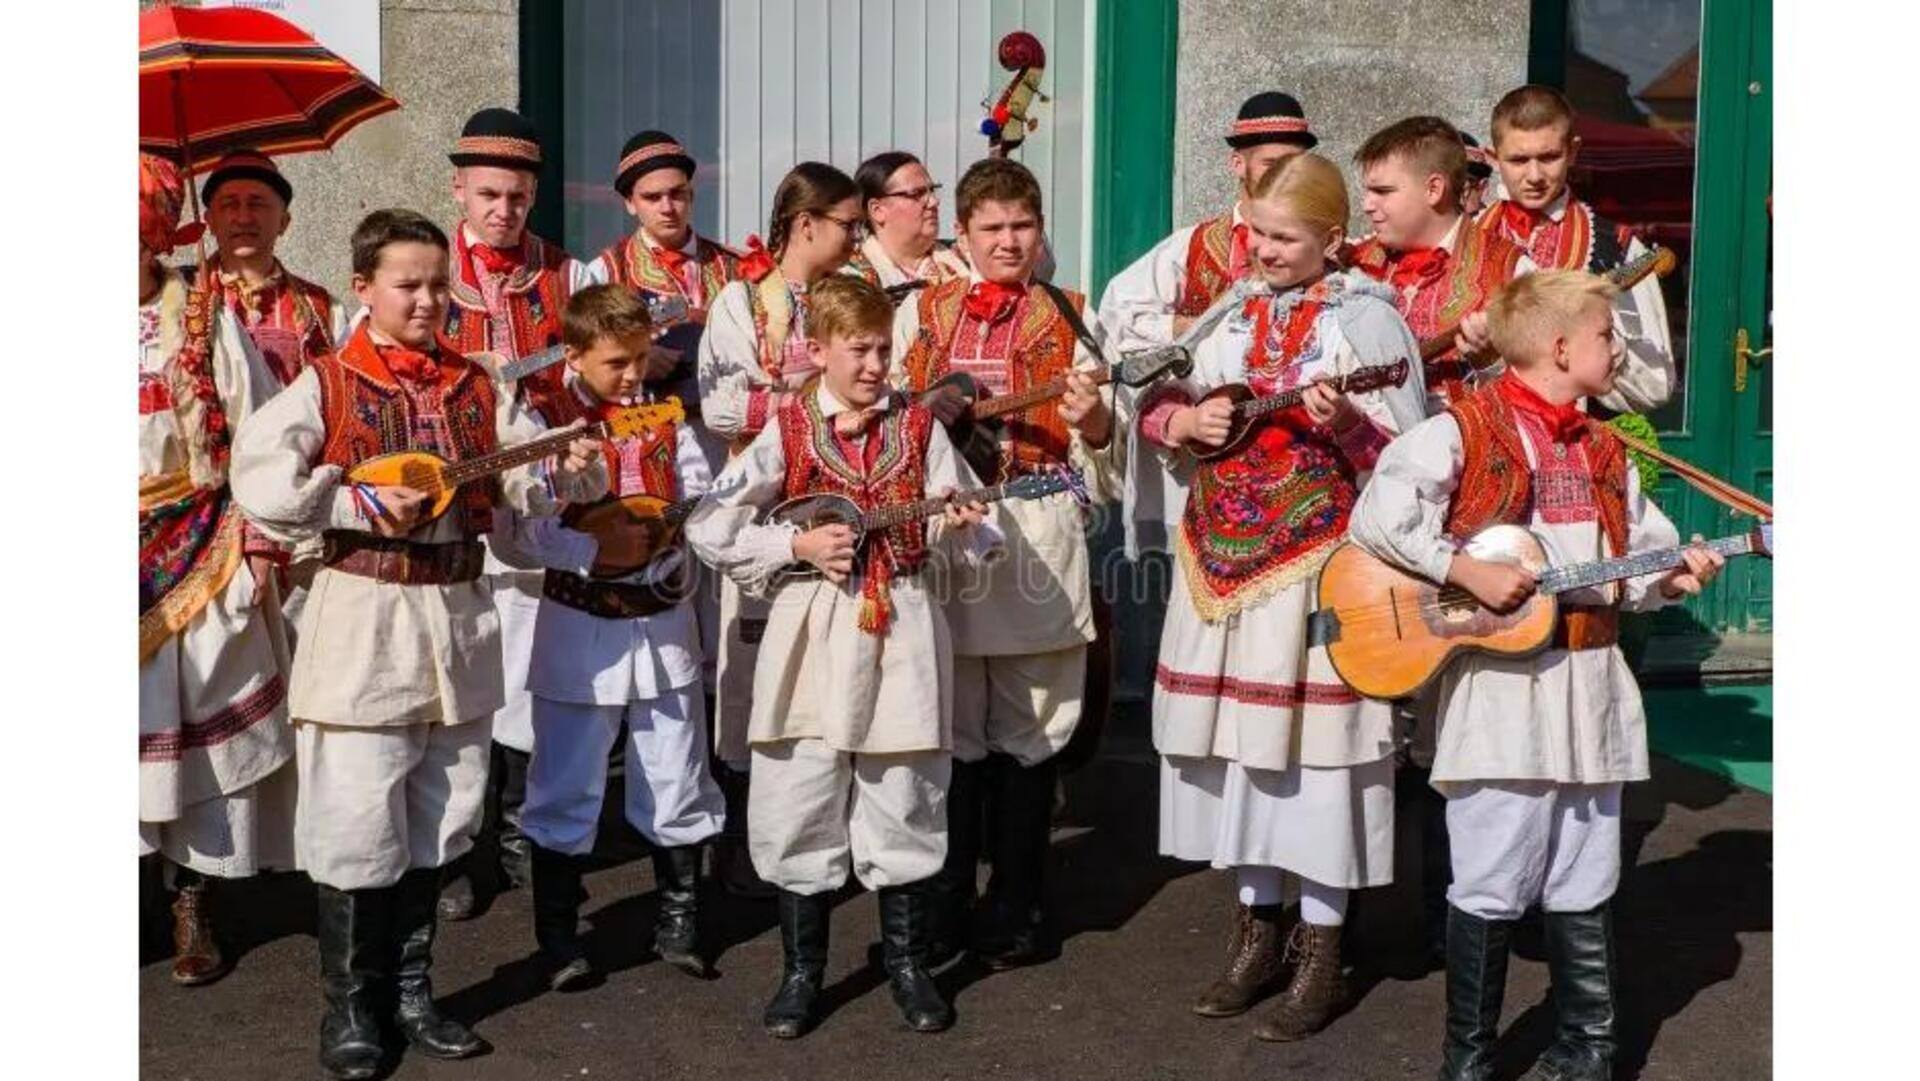
<svg viewBox="0 0 1920 1081">
<path fill-rule="evenodd" d="M 1181 0 L 1173 221 L 1233 200 L 1221 138 L 1258 90 L 1300 98 L 1319 154 L 1348 173 L 1357 221 L 1354 150 L 1417 113 L 1484 138 L 1494 102 L 1526 81 L 1528 10 L 1528 0 Z"/>
</svg>

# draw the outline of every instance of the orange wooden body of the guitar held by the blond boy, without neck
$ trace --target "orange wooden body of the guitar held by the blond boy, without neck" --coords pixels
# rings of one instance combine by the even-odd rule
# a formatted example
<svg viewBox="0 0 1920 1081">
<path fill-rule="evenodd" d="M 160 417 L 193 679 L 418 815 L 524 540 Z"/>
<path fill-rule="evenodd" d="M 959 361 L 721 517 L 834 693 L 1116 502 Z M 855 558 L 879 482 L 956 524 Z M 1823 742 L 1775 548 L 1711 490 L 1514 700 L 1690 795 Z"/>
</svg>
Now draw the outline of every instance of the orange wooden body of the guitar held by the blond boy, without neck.
<svg viewBox="0 0 1920 1081">
<path fill-rule="evenodd" d="M 1490 526 L 1467 541 L 1465 553 L 1536 574 L 1548 566 L 1540 538 L 1521 526 Z M 1559 614 L 1559 603 L 1542 593 L 1511 613 L 1488 611 L 1463 589 L 1407 574 L 1352 541 L 1321 568 L 1319 609 L 1338 622 L 1329 661 L 1369 699 L 1415 695 L 1465 653 L 1540 653 L 1551 645 Z"/>
</svg>

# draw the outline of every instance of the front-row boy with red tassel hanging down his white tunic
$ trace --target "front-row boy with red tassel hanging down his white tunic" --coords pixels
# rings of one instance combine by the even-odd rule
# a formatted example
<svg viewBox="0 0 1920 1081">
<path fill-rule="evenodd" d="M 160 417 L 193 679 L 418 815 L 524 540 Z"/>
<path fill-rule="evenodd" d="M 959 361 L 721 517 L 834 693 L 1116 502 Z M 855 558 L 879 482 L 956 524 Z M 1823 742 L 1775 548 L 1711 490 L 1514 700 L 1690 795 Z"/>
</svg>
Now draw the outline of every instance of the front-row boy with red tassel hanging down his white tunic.
<svg viewBox="0 0 1920 1081">
<path fill-rule="evenodd" d="M 958 541 L 956 557 L 977 559 L 993 530 L 970 530 L 979 505 L 948 505 L 931 536 L 918 518 L 864 541 L 845 524 L 756 524 L 801 495 L 874 513 L 972 480 L 933 413 L 889 388 L 891 323 L 879 286 L 845 275 L 814 282 L 808 351 L 822 376 L 781 397 L 687 522 L 701 559 L 770 597 L 747 730 L 747 841 L 755 870 L 780 889 L 785 968 L 764 1023 L 781 1039 L 816 1020 L 828 914 L 849 870 L 879 891 L 885 968 L 906 1023 L 952 1023 L 925 970 L 925 885 L 947 856 L 954 682 L 947 616 L 922 568 L 935 543 Z M 820 576 L 783 574 L 795 563 Z"/>
</svg>

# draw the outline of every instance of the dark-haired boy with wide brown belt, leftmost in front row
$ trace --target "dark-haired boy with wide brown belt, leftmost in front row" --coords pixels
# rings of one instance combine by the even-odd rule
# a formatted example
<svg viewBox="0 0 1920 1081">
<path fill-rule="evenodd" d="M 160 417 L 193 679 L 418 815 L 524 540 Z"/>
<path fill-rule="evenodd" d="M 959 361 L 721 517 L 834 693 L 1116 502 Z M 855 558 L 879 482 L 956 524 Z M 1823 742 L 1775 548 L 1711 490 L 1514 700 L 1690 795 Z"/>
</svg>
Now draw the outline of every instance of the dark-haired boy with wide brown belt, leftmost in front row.
<svg viewBox="0 0 1920 1081">
<path fill-rule="evenodd" d="M 486 1048 L 434 1006 L 442 866 L 472 847 L 488 770 L 486 718 L 501 705 L 499 620 L 480 582 L 493 505 L 551 515 L 607 490 L 599 444 L 453 488 L 434 461 L 492 455 L 543 434 L 484 365 L 442 336 L 447 236 L 403 209 L 353 230 L 353 292 L 367 305 L 234 436 L 234 499 L 265 534 L 324 543 L 300 624 L 290 712 L 300 801 L 294 843 L 319 887 L 321 1066 L 371 1077 L 386 1002 L 420 1054 Z M 357 484 L 378 455 L 417 453 L 407 480 Z M 490 463 L 476 463 L 474 468 Z M 444 511 L 444 513 L 440 513 Z"/>
</svg>

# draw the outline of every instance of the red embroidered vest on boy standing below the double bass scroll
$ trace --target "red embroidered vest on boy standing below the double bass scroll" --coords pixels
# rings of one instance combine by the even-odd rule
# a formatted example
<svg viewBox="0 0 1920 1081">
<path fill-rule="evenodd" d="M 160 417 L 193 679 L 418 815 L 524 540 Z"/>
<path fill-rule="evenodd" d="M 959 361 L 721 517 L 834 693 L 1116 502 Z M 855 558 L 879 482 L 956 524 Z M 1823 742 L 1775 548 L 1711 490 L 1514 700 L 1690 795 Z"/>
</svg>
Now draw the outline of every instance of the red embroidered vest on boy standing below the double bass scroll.
<svg viewBox="0 0 1920 1081">
<path fill-rule="evenodd" d="M 906 348 L 906 390 L 922 394 L 950 371 L 954 334 L 975 323 L 966 315 L 968 278 L 952 278 L 920 290 L 920 332 Z M 1087 303 L 1077 292 L 1062 290 L 1075 311 Z M 1010 394 L 1064 378 L 1073 367 L 1073 328 L 1041 286 L 1027 286 L 1025 300 L 1010 317 L 1012 342 L 1006 349 Z M 1000 476 L 1029 472 L 1068 461 L 1068 424 L 1054 403 L 1006 417 L 1008 442 L 1000 453 Z M 981 478 L 996 480 L 996 478 Z"/>
</svg>

